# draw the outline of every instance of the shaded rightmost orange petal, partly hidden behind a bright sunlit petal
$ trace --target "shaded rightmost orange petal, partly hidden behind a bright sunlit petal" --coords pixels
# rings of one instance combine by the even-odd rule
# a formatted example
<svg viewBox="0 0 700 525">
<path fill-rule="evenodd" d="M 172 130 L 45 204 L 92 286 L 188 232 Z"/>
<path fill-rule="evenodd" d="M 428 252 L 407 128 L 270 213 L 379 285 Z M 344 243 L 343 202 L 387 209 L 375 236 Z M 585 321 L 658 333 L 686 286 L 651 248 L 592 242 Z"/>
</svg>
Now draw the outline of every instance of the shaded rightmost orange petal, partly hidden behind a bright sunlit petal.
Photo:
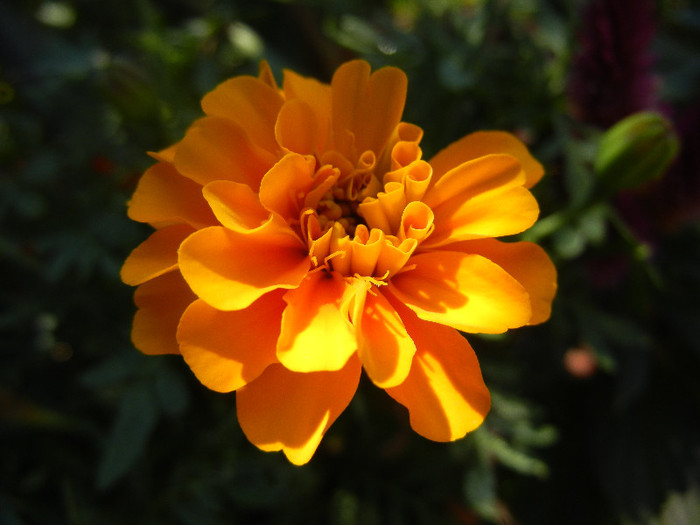
<svg viewBox="0 0 700 525">
<path fill-rule="evenodd" d="M 505 243 L 480 239 L 450 244 L 445 249 L 476 253 L 495 262 L 527 290 L 532 307 L 532 318 L 528 324 L 539 324 L 549 319 L 557 291 L 557 270 L 542 248 L 531 242 Z"/>
</svg>

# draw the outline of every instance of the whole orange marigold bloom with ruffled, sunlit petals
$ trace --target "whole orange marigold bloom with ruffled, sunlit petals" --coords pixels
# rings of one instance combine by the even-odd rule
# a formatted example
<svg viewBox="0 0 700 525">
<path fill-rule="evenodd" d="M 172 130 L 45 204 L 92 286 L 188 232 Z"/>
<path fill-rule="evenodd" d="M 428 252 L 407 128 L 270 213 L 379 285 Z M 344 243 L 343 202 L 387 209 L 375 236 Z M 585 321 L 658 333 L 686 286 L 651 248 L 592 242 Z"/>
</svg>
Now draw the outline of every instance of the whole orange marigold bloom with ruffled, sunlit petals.
<svg viewBox="0 0 700 525">
<path fill-rule="evenodd" d="M 129 216 L 156 231 L 126 260 L 134 344 L 179 353 L 236 391 L 263 450 L 309 461 L 364 368 L 419 434 L 451 441 L 490 408 L 457 330 L 549 317 L 556 272 L 517 234 L 542 166 L 514 136 L 468 135 L 422 158 L 401 122 L 406 76 L 360 60 L 330 85 L 266 64 L 202 100 L 205 117 L 142 176 Z"/>
</svg>

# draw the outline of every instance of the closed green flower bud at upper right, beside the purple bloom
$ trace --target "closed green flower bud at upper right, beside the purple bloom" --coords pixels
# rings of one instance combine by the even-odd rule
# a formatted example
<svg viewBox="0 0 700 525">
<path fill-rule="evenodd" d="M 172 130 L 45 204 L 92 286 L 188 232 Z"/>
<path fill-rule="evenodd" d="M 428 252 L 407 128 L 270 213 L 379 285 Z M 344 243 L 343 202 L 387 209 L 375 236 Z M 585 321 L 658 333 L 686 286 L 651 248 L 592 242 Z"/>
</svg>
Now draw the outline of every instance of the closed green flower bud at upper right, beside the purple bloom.
<svg viewBox="0 0 700 525">
<path fill-rule="evenodd" d="M 622 119 L 600 139 L 594 169 L 606 194 L 636 188 L 664 174 L 678 152 L 671 123 L 658 113 Z"/>
</svg>

